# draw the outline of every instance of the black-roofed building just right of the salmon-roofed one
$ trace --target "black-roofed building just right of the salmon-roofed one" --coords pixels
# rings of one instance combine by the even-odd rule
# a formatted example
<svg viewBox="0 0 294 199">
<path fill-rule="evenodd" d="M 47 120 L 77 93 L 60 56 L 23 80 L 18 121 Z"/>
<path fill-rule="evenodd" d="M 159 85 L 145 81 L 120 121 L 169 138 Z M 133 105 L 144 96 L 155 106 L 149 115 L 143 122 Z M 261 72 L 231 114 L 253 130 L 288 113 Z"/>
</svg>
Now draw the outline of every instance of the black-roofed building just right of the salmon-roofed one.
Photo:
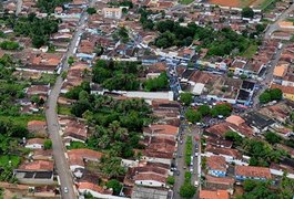
<svg viewBox="0 0 294 199">
<path fill-rule="evenodd" d="M 275 125 L 274 119 L 262 115 L 258 112 L 246 113 L 243 118 L 245 119 L 245 123 L 253 128 L 255 134 L 264 133 L 268 127 Z"/>
</svg>

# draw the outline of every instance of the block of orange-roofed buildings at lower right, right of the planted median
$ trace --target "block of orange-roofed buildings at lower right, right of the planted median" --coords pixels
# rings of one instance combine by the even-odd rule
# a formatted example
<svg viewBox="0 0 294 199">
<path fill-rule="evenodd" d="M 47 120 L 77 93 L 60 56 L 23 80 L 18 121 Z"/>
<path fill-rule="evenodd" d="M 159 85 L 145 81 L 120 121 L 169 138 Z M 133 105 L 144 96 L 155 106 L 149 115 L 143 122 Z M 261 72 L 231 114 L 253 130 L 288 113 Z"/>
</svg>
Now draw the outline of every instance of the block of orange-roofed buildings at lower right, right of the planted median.
<svg viewBox="0 0 294 199">
<path fill-rule="evenodd" d="M 281 102 L 241 115 L 231 115 L 204 129 L 205 149 L 201 156 L 205 159 L 203 190 L 200 198 L 222 192 L 229 198 L 233 195 L 235 185 L 241 185 L 246 179 L 276 180 L 283 175 L 294 178 L 293 164 L 290 157 L 271 163 L 268 167 L 249 166 L 251 157 L 243 149 L 234 147 L 233 142 L 225 139 L 227 132 L 235 132 L 242 138 L 262 140 L 266 132 L 274 132 L 284 139 L 292 137 L 293 130 L 284 126 L 293 111 L 292 102 Z M 284 144 L 276 144 L 274 149 L 283 149 L 293 156 L 293 148 Z"/>
</svg>

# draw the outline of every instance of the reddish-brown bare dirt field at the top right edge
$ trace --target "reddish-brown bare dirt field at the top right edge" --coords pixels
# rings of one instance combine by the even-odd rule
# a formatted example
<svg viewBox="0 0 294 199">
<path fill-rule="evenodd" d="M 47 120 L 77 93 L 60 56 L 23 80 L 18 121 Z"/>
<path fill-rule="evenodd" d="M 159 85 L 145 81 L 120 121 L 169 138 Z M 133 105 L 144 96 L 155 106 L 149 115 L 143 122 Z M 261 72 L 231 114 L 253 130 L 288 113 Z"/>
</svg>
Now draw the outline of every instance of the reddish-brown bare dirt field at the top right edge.
<svg viewBox="0 0 294 199">
<path fill-rule="evenodd" d="M 209 0 L 210 3 L 223 7 L 244 8 L 254 7 L 265 9 L 275 0 Z"/>
</svg>

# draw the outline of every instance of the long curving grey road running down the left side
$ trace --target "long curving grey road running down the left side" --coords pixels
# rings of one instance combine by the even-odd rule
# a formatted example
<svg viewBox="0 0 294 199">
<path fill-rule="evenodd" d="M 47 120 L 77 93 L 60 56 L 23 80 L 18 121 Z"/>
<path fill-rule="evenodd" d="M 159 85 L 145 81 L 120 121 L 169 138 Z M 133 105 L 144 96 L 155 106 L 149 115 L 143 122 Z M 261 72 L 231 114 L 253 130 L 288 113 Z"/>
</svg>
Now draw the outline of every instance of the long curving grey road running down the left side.
<svg viewBox="0 0 294 199">
<path fill-rule="evenodd" d="M 90 2 L 90 6 L 93 4 L 93 1 Z M 87 22 L 88 14 L 84 12 L 80 19 L 79 25 L 77 27 L 75 33 L 73 35 L 73 39 L 70 43 L 69 50 L 64 55 L 64 59 L 62 61 L 62 70 L 68 71 L 68 59 L 73 55 L 74 46 L 77 45 L 77 42 L 79 41 L 79 36 L 82 33 L 82 27 Z M 59 76 L 57 78 L 57 82 L 51 90 L 51 93 L 48 98 L 48 108 L 45 111 L 45 117 L 48 123 L 48 132 L 50 134 L 50 138 L 52 139 L 52 147 L 53 147 L 53 157 L 55 160 L 55 168 L 60 177 L 61 182 L 61 193 L 62 199 L 74 199 L 77 198 L 77 195 L 74 192 L 74 184 L 72 179 L 72 175 L 70 172 L 70 168 L 67 161 L 67 158 L 64 156 L 65 149 L 64 145 L 62 143 L 62 138 L 59 134 L 59 124 L 58 124 L 58 115 L 57 115 L 57 100 L 60 94 L 60 90 L 62 86 L 62 78 Z M 64 193 L 64 187 L 69 189 L 68 193 Z"/>
</svg>

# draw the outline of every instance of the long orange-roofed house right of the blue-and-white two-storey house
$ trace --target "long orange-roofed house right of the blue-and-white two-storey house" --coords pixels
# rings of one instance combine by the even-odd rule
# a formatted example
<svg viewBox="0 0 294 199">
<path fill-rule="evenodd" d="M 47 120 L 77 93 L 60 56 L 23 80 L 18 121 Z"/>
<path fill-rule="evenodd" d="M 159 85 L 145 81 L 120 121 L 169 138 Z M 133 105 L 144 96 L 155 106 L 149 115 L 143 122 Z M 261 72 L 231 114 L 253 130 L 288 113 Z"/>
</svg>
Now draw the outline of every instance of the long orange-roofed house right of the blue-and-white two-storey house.
<svg viewBox="0 0 294 199">
<path fill-rule="evenodd" d="M 236 180 L 245 179 L 268 180 L 272 179 L 271 170 L 266 167 L 235 166 Z"/>
</svg>

